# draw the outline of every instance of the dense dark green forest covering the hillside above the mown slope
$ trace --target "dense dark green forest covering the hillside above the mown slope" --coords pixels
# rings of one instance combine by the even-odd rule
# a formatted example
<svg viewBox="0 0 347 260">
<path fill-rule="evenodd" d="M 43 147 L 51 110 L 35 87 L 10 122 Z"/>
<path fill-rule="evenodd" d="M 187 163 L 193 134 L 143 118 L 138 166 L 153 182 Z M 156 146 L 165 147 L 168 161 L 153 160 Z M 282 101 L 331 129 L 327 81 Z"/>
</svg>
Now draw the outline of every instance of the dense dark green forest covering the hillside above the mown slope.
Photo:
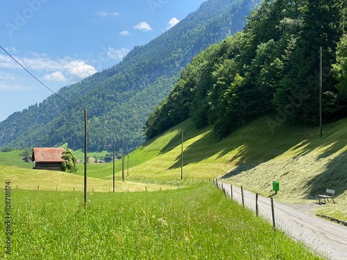
<svg viewBox="0 0 347 260">
<path fill-rule="evenodd" d="M 257 116 L 319 123 L 322 48 L 323 121 L 347 115 L 346 0 L 264 0 L 240 33 L 202 51 L 144 125 L 147 139 L 192 119 L 223 138 Z"/>
</svg>

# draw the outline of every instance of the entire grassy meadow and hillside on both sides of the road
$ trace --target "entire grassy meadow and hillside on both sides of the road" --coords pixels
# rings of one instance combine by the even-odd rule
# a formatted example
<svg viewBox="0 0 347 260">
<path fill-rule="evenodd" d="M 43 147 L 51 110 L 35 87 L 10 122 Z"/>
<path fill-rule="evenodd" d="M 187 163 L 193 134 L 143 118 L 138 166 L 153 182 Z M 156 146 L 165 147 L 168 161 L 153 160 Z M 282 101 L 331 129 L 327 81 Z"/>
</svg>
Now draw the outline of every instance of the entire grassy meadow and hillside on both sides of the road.
<svg viewBox="0 0 347 260">
<path fill-rule="evenodd" d="M 271 131 L 267 119 L 222 140 L 180 123 L 126 156 L 125 182 L 115 162 L 116 193 L 113 164 L 88 164 L 86 209 L 83 164 L 74 174 L 37 171 L 22 151 L 0 153 L 0 181 L 12 187 L 12 259 L 317 259 L 210 184 L 218 178 L 312 205 L 335 189 L 336 204 L 316 205 L 316 213 L 347 221 L 347 119 L 324 125 L 323 137 L 285 124 Z"/>
</svg>

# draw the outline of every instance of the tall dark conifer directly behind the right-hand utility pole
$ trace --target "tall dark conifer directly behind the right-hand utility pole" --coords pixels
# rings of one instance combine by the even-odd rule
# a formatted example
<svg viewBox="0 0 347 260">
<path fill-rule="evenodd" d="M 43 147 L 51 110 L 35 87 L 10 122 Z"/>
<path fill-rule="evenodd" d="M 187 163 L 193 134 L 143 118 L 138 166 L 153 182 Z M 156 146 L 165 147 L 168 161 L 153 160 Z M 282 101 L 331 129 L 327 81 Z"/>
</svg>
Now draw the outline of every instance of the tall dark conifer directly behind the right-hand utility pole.
<svg viewBox="0 0 347 260">
<path fill-rule="evenodd" d="M 323 116 L 330 118 L 337 100 L 337 81 L 332 78 L 337 42 L 344 33 L 344 1 L 308 0 L 303 12 L 303 25 L 298 37 L 287 50 L 287 62 L 274 103 L 286 110 L 290 100 L 300 99 L 291 114 L 291 121 L 308 125 L 319 123 L 319 49 L 323 48 Z"/>
</svg>

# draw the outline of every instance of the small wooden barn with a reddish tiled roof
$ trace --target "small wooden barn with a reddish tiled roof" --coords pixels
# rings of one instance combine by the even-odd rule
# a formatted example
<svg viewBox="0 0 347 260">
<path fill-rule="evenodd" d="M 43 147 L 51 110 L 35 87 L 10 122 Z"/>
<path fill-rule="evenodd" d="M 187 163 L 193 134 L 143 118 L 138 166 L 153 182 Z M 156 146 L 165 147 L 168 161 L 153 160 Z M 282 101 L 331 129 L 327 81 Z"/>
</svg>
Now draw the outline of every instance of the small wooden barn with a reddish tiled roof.
<svg viewBox="0 0 347 260">
<path fill-rule="evenodd" d="M 64 148 L 33 148 L 33 168 L 61 171 L 62 162 L 65 162 L 65 159 L 62 159 L 63 151 Z"/>
</svg>

